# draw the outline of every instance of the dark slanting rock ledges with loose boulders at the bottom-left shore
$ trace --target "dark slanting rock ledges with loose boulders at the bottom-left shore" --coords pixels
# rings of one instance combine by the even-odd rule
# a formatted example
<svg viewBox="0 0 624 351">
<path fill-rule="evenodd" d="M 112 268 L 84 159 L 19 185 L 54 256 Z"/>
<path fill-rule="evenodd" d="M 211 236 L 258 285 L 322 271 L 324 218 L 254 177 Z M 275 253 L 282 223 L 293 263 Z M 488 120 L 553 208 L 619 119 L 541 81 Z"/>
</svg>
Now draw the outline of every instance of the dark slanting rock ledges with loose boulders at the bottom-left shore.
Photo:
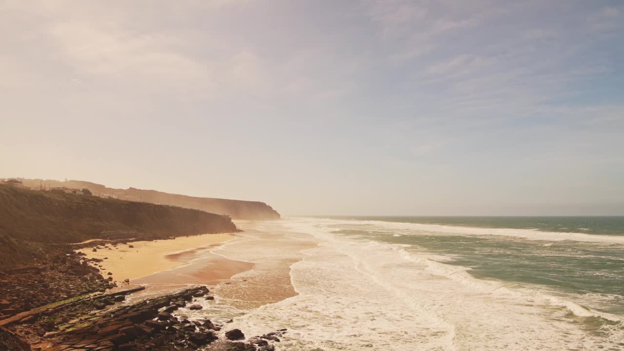
<svg viewBox="0 0 624 351">
<path fill-rule="evenodd" d="M 273 344 L 260 339 L 265 335 L 253 339 L 253 342 L 232 342 L 220 338 L 220 326 L 210 320 L 189 320 L 165 312 L 180 308 L 177 307 L 180 300 L 192 301 L 193 297 L 207 292 L 207 287 L 193 287 L 130 305 L 111 303 L 101 311 L 94 309 L 92 300 L 103 300 L 111 294 L 85 297 L 72 305 L 21 320 L 12 325 L 12 331 L 28 335 L 26 339 L 32 349 L 42 351 L 174 351 L 203 347 L 213 351 L 275 349 Z M 50 320 L 56 323 L 50 326 Z M 235 330 L 227 335 L 234 333 L 236 339 L 244 339 L 242 332 Z"/>
</svg>

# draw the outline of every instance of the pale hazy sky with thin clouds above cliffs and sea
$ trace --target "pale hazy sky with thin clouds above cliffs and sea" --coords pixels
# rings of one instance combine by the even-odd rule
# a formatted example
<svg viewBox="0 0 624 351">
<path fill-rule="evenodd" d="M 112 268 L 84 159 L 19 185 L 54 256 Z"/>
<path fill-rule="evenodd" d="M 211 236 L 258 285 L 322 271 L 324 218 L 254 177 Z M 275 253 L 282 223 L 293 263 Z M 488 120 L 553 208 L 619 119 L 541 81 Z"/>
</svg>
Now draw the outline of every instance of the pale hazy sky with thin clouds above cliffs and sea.
<svg viewBox="0 0 624 351">
<path fill-rule="evenodd" d="M 624 2 L 0 0 L 0 177 L 624 215 Z"/>
</svg>

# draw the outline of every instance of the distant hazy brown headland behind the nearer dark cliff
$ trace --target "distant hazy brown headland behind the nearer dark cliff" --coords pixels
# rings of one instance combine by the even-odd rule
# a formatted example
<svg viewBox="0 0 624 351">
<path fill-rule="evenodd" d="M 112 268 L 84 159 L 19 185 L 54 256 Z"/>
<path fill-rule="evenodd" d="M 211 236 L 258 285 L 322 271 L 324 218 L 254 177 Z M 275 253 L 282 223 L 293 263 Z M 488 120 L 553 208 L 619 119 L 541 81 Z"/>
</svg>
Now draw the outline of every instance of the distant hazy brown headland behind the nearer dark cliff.
<svg viewBox="0 0 624 351">
<path fill-rule="evenodd" d="M 280 214 L 264 202 L 215 199 L 212 197 L 194 197 L 187 195 L 168 194 L 157 190 L 112 189 L 102 184 L 82 180 L 22 179 L 27 187 L 39 187 L 48 184 L 51 187 L 87 188 L 94 195 L 114 197 L 121 200 L 150 202 L 152 204 L 175 205 L 187 209 L 198 209 L 215 214 L 225 214 L 232 219 L 267 220 L 280 219 Z"/>
</svg>

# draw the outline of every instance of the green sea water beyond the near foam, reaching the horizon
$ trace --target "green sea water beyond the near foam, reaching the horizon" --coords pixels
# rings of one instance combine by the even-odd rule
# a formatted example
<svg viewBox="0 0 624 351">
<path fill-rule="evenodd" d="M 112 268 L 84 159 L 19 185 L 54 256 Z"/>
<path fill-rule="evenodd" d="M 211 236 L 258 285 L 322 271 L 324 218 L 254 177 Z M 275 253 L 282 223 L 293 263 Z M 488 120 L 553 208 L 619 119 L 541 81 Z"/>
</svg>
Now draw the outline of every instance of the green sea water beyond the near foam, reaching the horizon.
<svg viewBox="0 0 624 351">
<path fill-rule="evenodd" d="M 361 223 L 361 230 L 336 225 L 339 234 L 445 255 L 445 264 L 467 267 L 479 279 L 586 297 L 592 308 L 624 315 L 624 217 L 331 218 Z M 428 226 L 391 234 L 383 226 L 371 230 L 374 222 Z"/>
</svg>

